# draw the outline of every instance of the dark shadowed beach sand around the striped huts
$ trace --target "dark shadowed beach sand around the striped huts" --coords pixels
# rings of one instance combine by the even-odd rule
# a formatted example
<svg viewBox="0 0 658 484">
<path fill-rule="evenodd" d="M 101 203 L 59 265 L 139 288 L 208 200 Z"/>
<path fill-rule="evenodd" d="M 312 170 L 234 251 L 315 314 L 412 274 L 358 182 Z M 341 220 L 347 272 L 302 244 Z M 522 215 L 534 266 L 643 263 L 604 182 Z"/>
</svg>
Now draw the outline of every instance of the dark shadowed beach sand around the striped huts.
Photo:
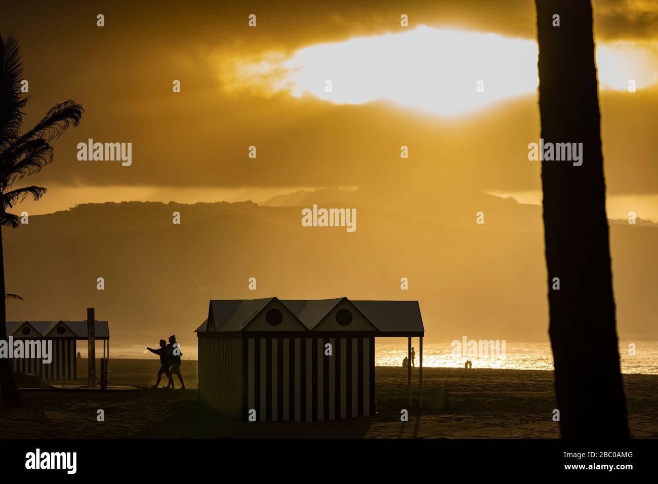
<svg viewBox="0 0 658 484">
<path fill-rule="evenodd" d="M 23 391 L 26 405 L 0 404 L 0 436 L 15 438 L 557 438 L 553 372 L 508 369 L 424 368 L 424 388 L 447 390 L 445 410 L 418 410 L 418 369 L 413 402 L 407 371 L 376 367 L 378 413 L 315 423 L 222 421 L 197 403 L 197 362 L 184 361 L 186 390 L 151 389 L 155 360 L 111 360 L 110 380 L 136 392 Z M 86 360 L 78 367 L 85 374 Z M 658 375 L 623 375 L 633 437 L 658 438 Z M 174 380 L 178 387 L 178 379 Z M 42 382 L 47 387 L 50 383 Z M 66 382 L 74 384 L 74 382 Z M 85 379 L 78 379 L 85 385 Z M 166 381 L 164 382 L 166 383 Z M 163 384 L 161 384 L 163 385 Z M 22 387 L 35 387 L 22 384 Z M 97 410 L 105 421 L 97 421 Z M 400 411 L 409 410 L 409 421 Z"/>
</svg>

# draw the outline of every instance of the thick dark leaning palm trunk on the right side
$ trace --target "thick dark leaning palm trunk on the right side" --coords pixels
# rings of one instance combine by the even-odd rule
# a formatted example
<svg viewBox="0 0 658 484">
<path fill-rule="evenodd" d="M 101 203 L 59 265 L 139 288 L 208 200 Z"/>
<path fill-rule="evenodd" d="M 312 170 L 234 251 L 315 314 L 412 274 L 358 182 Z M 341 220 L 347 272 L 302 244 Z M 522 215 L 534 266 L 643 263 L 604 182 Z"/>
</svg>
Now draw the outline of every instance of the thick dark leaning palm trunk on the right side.
<svg viewBox="0 0 658 484">
<path fill-rule="evenodd" d="M 542 161 L 555 394 L 563 438 L 628 437 L 619 368 L 589 0 L 536 0 L 542 138 L 582 142 L 582 165 Z M 559 14 L 560 26 L 553 26 Z M 559 290 L 553 278 L 559 278 Z"/>
</svg>

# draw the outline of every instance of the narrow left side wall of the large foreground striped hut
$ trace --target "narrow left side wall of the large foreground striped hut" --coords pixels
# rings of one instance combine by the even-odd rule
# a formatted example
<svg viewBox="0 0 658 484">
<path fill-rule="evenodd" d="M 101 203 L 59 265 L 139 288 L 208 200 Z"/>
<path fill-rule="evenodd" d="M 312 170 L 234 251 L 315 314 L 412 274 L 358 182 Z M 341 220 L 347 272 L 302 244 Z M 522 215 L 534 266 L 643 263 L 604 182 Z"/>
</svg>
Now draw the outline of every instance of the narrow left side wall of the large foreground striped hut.
<svg viewBox="0 0 658 484">
<path fill-rule="evenodd" d="M 199 402 L 222 417 L 240 419 L 242 340 L 199 336 Z"/>
</svg>

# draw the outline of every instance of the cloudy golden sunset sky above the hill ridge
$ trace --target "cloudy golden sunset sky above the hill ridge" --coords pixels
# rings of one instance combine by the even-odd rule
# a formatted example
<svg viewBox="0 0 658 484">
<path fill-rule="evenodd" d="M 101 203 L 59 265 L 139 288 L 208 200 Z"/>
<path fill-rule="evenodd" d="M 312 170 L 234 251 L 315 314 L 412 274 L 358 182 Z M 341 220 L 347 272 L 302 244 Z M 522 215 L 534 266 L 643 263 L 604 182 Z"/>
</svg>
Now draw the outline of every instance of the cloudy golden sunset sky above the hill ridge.
<svg viewBox="0 0 658 484">
<path fill-rule="evenodd" d="M 595 0 L 594 13 L 609 216 L 658 221 L 658 5 Z M 29 180 L 48 194 L 19 209 L 261 202 L 399 179 L 539 203 L 540 165 L 527 159 L 540 129 L 535 22 L 530 0 L 23 2 L 0 31 L 21 42 L 26 127 L 64 99 L 86 111 Z M 132 166 L 78 161 L 88 138 L 132 142 Z"/>
</svg>

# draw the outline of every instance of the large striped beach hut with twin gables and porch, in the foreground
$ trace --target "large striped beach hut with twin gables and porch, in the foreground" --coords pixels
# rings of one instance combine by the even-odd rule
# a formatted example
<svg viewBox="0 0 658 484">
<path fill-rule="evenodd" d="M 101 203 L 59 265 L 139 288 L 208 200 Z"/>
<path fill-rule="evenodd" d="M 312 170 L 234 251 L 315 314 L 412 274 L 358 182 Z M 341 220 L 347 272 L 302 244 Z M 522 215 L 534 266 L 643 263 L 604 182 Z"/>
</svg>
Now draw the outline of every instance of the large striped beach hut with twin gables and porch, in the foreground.
<svg viewBox="0 0 658 484">
<path fill-rule="evenodd" d="M 195 332 L 199 400 L 243 421 L 318 421 L 375 412 L 375 338 L 420 338 L 417 301 L 212 300 Z M 411 404 L 411 366 L 408 371 Z"/>
</svg>

